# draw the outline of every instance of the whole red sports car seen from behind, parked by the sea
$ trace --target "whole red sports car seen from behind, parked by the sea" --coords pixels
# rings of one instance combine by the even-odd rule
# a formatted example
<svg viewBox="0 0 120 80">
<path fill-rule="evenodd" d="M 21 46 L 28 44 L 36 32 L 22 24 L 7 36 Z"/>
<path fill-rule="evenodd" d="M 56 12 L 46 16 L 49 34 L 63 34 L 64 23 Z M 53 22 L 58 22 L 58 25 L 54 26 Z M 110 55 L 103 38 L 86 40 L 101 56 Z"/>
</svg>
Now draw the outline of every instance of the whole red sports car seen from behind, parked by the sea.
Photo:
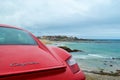
<svg viewBox="0 0 120 80">
<path fill-rule="evenodd" d="M 0 80 L 85 80 L 85 75 L 67 51 L 0 24 Z"/>
</svg>

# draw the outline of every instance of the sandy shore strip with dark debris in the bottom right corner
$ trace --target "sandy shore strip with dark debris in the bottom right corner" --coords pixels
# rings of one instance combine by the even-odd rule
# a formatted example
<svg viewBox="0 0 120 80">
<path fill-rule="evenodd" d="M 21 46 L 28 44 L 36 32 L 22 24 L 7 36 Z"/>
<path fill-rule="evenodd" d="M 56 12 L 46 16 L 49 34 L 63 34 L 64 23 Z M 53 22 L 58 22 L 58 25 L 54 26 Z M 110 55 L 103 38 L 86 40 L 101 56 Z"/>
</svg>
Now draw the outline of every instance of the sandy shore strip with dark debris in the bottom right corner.
<svg viewBox="0 0 120 80">
<path fill-rule="evenodd" d="M 86 80 L 120 80 L 120 70 L 116 72 L 88 71 L 83 70 L 86 75 Z"/>
</svg>

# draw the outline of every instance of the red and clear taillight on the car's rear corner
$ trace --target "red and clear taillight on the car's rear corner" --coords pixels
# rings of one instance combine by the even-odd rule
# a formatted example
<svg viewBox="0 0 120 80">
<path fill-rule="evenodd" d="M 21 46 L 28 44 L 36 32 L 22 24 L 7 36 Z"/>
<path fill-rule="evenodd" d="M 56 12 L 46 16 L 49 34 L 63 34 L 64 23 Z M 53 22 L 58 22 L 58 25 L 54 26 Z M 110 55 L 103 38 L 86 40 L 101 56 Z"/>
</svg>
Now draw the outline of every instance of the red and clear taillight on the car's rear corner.
<svg viewBox="0 0 120 80">
<path fill-rule="evenodd" d="M 73 73 L 77 73 L 78 71 L 80 71 L 78 64 L 76 63 L 76 61 L 72 57 L 70 57 L 67 60 L 67 64 L 69 65 L 69 67 Z"/>
</svg>

